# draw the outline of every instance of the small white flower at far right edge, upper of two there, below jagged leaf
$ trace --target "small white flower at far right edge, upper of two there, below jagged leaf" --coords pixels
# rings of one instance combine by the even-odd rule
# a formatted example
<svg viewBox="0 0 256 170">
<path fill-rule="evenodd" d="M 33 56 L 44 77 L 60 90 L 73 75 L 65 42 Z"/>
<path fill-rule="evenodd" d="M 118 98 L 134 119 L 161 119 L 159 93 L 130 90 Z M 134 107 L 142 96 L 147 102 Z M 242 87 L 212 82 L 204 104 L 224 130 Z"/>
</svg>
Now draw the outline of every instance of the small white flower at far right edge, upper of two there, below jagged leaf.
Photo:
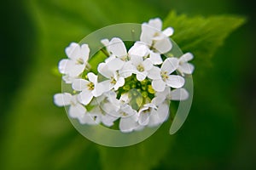
<svg viewBox="0 0 256 170">
<path fill-rule="evenodd" d="M 188 63 L 188 61 L 191 59 L 193 59 L 193 54 L 191 53 L 183 54 L 178 59 L 177 71 L 179 71 L 182 76 L 184 76 L 184 74 L 192 74 L 192 72 L 194 71 L 194 65 Z"/>
</svg>

